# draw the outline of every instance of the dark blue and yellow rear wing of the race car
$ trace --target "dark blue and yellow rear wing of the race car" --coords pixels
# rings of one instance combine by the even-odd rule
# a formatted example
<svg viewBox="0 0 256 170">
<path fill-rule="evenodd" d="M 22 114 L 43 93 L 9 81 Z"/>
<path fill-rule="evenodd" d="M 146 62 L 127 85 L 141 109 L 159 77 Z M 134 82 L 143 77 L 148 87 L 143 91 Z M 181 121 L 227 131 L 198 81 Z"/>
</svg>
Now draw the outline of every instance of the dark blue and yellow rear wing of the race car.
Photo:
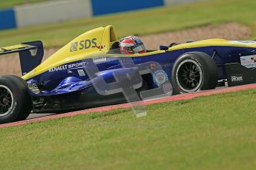
<svg viewBox="0 0 256 170">
<path fill-rule="evenodd" d="M 22 75 L 25 75 L 41 64 L 44 56 L 44 47 L 42 41 L 31 41 L 10 47 L 0 47 L 0 55 L 15 52 L 19 52 Z"/>
</svg>

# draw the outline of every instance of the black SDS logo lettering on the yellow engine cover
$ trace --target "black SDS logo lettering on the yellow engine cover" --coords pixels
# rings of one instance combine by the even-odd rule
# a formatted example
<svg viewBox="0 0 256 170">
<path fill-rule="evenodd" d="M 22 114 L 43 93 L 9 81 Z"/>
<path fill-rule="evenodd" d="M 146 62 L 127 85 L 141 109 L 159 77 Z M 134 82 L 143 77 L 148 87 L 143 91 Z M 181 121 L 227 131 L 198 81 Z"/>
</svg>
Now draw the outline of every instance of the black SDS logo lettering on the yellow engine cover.
<svg viewBox="0 0 256 170">
<path fill-rule="evenodd" d="M 70 47 L 70 52 L 74 52 L 79 50 L 86 50 L 89 48 L 95 48 L 97 47 L 96 44 L 96 38 L 92 38 L 92 39 L 86 39 L 86 40 L 82 40 L 82 41 L 76 41 L 74 43 L 71 44 Z"/>
</svg>

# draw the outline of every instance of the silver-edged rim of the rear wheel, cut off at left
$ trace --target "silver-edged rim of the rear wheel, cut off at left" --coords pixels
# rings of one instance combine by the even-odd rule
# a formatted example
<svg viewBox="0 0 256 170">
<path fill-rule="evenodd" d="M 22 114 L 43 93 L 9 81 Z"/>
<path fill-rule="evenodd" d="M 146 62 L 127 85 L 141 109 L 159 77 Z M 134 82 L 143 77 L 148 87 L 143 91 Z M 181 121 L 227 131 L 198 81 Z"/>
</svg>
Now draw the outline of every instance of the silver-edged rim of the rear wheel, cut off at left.
<svg viewBox="0 0 256 170">
<path fill-rule="evenodd" d="M 0 117 L 8 115 L 13 109 L 13 93 L 7 86 L 0 85 Z"/>
</svg>

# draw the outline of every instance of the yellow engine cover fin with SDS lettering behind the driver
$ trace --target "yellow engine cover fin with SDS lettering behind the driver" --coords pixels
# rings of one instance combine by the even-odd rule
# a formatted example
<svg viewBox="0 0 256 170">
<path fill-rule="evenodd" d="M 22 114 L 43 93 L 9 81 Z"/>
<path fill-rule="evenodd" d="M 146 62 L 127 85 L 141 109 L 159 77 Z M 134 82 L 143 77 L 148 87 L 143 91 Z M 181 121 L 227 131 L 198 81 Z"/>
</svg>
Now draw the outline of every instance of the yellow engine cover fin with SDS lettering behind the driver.
<svg viewBox="0 0 256 170">
<path fill-rule="evenodd" d="M 74 38 L 22 78 L 27 80 L 53 67 L 106 53 L 117 41 L 113 26 L 99 27 Z"/>
</svg>

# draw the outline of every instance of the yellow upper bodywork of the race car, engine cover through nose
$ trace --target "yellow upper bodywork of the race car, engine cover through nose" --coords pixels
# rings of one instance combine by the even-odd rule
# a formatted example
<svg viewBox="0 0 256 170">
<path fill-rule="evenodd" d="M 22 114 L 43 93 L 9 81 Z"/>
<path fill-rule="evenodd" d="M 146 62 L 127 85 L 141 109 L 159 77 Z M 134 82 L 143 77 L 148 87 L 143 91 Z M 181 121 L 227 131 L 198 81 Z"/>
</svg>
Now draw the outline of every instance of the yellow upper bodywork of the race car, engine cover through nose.
<svg viewBox="0 0 256 170">
<path fill-rule="evenodd" d="M 116 31 L 114 27 L 109 25 L 107 27 L 99 27 L 90 30 L 82 35 L 79 35 L 60 50 L 55 52 L 50 58 L 47 58 L 42 64 L 28 72 L 22 78 L 27 80 L 33 78 L 36 75 L 46 72 L 47 70 L 57 67 L 62 64 L 67 64 L 73 61 L 79 61 L 86 58 L 93 58 L 97 55 L 105 55 L 111 57 L 113 54 L 107 54 L 108 50 L 114 42 L 118 41 Z M 254 42 L 254 43 L 253 43 Z M 179 44 L 174 47 L 170 47 L 168 51 L 193 48 L 193 47 L 207 47 L 207 46 L 232 46 L 232 47 L 256 47 L 255 41 L 248 41 L 248 43 L 242 41 L 227 41 L 223 39 L 209 39 L 203 41 L 195 41 L 191 43 Z M 19 46 L 18 46 L 19 47 Z M 1 49 L 0 49 L 1 50 Z M 165 52 L 163 50 L 157 50 L 154 52 L 147 52 L 143 54 L 129 55 L 129 57 L 148 56 L 157 53 Z M 127 56 L 127 55 L 119 55 Z"/>
</svg>

